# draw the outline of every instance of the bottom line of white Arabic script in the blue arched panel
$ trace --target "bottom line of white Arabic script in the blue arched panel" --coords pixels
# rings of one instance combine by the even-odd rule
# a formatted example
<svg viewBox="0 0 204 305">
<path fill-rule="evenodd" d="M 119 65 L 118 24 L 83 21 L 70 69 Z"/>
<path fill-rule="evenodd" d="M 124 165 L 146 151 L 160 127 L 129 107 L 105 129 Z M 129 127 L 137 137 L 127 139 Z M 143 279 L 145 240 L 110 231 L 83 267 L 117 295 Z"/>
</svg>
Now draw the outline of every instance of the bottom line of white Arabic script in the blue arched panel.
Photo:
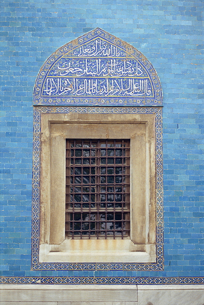
<svg viewBox="0 0 204 305">
<path fill-rule="evenodd" d="M 152 94 L 149 79 L 119 78 L 47 78 L 44 96 L 149 96 Z"/>
</svg>

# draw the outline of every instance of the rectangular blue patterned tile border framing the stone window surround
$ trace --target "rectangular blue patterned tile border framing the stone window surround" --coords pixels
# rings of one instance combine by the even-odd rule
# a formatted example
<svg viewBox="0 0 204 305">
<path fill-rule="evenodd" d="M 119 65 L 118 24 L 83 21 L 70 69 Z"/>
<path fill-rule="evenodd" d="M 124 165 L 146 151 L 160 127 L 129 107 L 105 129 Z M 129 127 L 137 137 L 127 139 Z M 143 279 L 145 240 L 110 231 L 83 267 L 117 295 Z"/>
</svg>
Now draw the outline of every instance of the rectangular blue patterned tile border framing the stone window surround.
<svg viewBox="0 0 204 305">
<path fill-rule="evenodd" d="M 39 179 L 40 179 L 40 115 L 41 113 L 154 113 L 156 120 L 157 163 L 157 247 L 156 263 L 39 263 Z M 163 154 L 161 107 L 63 107 L 35 106 L 33 135 L 33 208 L 32 208 L 32 270 L 89 270 L 89 271 L 162 271 L 163 250 Z"/>
</svg>

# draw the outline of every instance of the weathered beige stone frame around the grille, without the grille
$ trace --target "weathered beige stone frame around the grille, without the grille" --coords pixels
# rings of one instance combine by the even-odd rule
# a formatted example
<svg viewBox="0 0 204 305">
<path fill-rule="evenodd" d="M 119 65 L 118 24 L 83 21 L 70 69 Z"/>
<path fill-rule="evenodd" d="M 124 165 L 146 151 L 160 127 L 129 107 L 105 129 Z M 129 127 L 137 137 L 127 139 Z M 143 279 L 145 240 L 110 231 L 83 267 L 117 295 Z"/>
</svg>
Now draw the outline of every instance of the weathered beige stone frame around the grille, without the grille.
<svg viewBox="0 0 204 305">
<path fill-rule="evenodd" d="M 133 175 L 133 179 L 131 178 L 131 202 L 132 205 L 137 206 L 137 210 L 133 208 L 131 213 L 131 231 L 134 234 L 131 235 L 129 240 L 68 240 L 64 237 L 65 209 L 59 209 L 59 204 L 55 205 L 54 203 L 58 201 L 59 193 L 65 194 L 65 186 L 63 186 L 62 179 L 59 179 L 56 173 L 58 173 L 59 168 L 63 168 L 63 164 L 65 163 L 65 146 L 63 150 L 59 149 L 60 145 L 61 147 L 65 145 L 65 138 L 70 138 L 71 131 L 72 136 L 76 138 L 76 135 L 73 134 L 73 131 L 76 131 L 73 124 L 77 124 L 78 127 L 80 126 L 79 131 L 81 134 L 79 136 L 78 133 L 78 138 L 83 138 L 83 133 L 88 138 L 94 138 L 93 128 L 84 128 L 86 127 L 84 124 L 93 124 L 93 127 L 97 126 L 98 128 L 97 138 L 106 138 L 104 134 L 109 138 L 118 138 L 119 135 L 123 138 L 132 137 L 131 154 L 133 154 L 133 151 L 135 151 L 135 154 L 138 151 L 140 152 L 140 161 L 134 161 L 137 163 L 135 165 L 136 167 L 131 165 L 131 175 Z M 109 127 L 105 125 L 109 125 Z M 91 125 L 88 126 L 92 127 Z M 122 126 L 120 133 L 118 132 L 119 126 Z M 104 133 L 101 127 L 103 127 Z M 70 130 L 68 131 L 68 129 Z M 101 133 L 100 137 L 99 133 Z M 129 133 L 128 136 L 127 133 Z M 133 141 L 135 134 L 137 134 L 137 140 L 134 140 L 136 142 Z M 143 162 L 141 162 L 141 143 L 143 143 L 143 151 L 146 151 L 146 157 L 143 157 Z M 136 149 L 133 149 L 133 146 Z M 156 262 L 155 150 L 156 133 L 154 113 L 123 113 L 122 115 L 115 113 L 41 113 L 40 263 Z M 55 153 L 53 153 L 54 151 Z M 56 159 L 59 151 L 61 157 Z M 136 158 L 132 155 L 131 163 L 133 160 L 136 160 Z M 143 182 L 140 181 L 140 187 L 142 185 L 146 194 L 144 195 L 144 192 L 141 192 L 143 204 L 140 205 L 141 199 L 140 201 L 138 200 L 139 196 L 136 195 L 137 192 L 135 191 L 135 189 L 139 190 L 139 184 L 135 182 L 134 175 L 135 169 L 137 174 L 142 172 L 142 164 L 145 164 L 146 173 L 143 175 L 145 176 L 145 178 L 143 177 Z M 61 170 L 61 173 L 63 176 L 63 170 Z M 58 190 L 57 192 L 56 189 Z M 61 202 L 60 206 L 65 206 L 65 199 L 63 198 L 62 201 L 63 204 Z M 135 211 L 138 212 L 138 210 L 139 213 L 136 213 Z M 138 223 L 140 224 L 139 226 Z M 98 244 L 96 244 L 96 241 Z M 87 251 L 86 249 L 91 250 Z"/>
</svg>

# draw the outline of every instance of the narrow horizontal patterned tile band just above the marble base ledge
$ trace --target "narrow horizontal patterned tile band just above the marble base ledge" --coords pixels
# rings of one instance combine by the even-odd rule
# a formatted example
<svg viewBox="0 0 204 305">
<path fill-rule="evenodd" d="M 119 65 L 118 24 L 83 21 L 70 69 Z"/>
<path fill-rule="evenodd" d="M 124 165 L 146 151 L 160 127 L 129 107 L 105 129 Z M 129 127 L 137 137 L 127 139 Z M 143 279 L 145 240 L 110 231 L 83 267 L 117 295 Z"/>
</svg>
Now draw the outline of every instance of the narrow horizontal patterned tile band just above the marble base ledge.
<svg viewBox="0 0 204 305">
<path fill-rule="evenodd" d="M 81 285 L 193 285 L 204 284 L 204 277 L 1 277 L 0 284 L 81 284 Z"/>
</svg>

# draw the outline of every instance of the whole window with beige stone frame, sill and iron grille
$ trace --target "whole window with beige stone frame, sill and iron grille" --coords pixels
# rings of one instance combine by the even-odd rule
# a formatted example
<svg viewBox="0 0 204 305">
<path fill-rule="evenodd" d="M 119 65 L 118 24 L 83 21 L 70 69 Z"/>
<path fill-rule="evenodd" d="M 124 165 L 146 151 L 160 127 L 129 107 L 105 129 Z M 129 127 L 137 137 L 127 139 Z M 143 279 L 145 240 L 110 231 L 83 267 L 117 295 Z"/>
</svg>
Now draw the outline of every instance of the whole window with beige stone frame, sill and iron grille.
<svg viewBox="0 0 204 305">
<path fill-rule="evenodd" d="M 40 167 L 40 262 L 156 261 L 154 114 L 42 113 Z"/>
</svg>

